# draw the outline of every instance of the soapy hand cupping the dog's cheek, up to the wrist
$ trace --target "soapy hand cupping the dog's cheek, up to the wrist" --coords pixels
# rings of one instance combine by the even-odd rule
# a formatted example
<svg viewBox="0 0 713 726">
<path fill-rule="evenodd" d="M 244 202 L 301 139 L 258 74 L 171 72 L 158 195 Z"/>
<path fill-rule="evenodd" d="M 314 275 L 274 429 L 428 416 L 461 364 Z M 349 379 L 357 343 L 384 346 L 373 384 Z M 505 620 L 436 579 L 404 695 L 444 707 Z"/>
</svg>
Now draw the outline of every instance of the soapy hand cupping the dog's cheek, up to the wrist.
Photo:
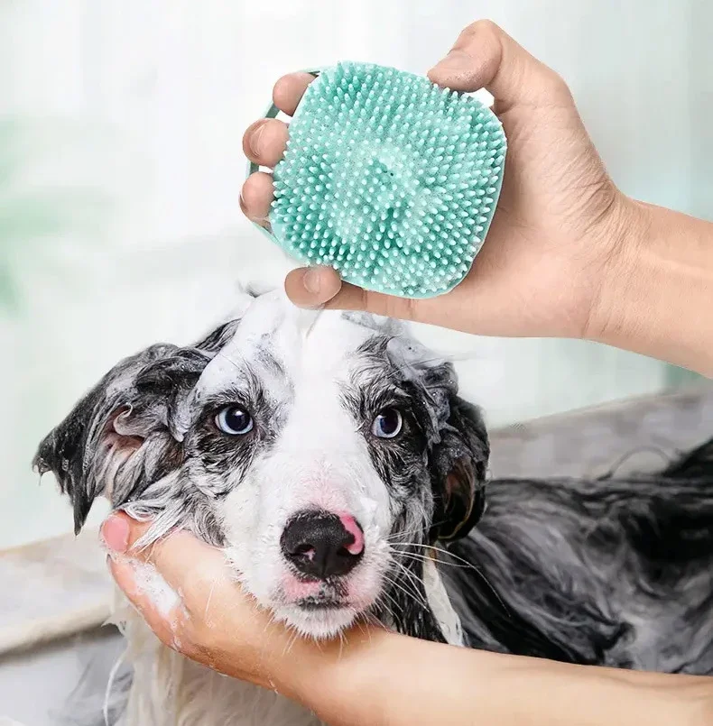
<svg viewBox="0 0 713 726">
<path fill-rule="evenodd" d="M 177 531 L 136 548 L 150 523 L 116 513 L 102 526 L 116 584 L 162 643 L 214 670 L 283 694 L 316 672 L 315 645 L 260 609 L 236 582 L 221 550 Z M 162 578 L 162 580 L 160 579 Z M 321 656 L 318 650 L 317 655 Z M 300 667 L 293 667 L 299 663 Z"/>
</svg>

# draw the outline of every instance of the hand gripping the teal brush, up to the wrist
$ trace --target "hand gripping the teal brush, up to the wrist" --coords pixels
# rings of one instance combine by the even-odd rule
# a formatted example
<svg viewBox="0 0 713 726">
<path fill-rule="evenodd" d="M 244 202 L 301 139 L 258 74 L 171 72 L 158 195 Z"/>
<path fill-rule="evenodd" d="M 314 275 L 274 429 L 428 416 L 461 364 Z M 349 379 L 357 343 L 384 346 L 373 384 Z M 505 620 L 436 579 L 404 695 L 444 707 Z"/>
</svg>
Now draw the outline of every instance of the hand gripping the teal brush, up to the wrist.
<svg viewBox="0 0 713 726">
<path fill-rule="evenodd" d="M 287 293 L 300 306 L 366 309 L 480 335 L 597 336 L 611 312 L 601 309 L 618 241 L 636 218 L 634 205 L 607 175 L 569 88 L 495 24 L 473 23 L 429 72 L 458 91 L 486 87 L 505 127 L 505 179 L 486 243 L 458 287 L 434 299 L 403 299 L 342 283 L 331 268 L 292 271 Z M 292 115 L 313 78 L 281 78 L 273 100 Z M 243 139 L 246 156 L 273 167 L 288 126 L 260 120 Z M 260 224 L 273 199 L 272 177 L 245 181 L 241 207 Z"/>
</svg>

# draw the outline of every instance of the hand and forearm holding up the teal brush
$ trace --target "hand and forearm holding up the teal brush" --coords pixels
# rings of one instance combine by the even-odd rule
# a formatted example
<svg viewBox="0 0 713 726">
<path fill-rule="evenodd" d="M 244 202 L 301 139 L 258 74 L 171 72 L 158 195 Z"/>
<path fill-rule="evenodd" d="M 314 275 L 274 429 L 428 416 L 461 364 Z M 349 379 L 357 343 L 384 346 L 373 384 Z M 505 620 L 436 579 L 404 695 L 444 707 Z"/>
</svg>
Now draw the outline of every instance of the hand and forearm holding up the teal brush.
<svg viewBox="0 0 713 726">
<path fill-rule="evenodd" d="M 713 374 L 713 225 L 616 188 L 565 82 L 493 23 L 464 30 L 429 78 L 486 87 L 508 140 L 497 211 L 468 276 L 416 300 L 342 284 L 330 268 L 298 269 L 285 281 L 292 301 L 478 335 L 587 338 Z M 291 115 L 311 80 L 281 78 L 275 104 Z M 282 121 L 256 121 L 245 154 L 272 167 L 288 135 Z M 245 181 L 248 217 L 266 225 L 272 199 L 270 174 Z"/>
</svg>

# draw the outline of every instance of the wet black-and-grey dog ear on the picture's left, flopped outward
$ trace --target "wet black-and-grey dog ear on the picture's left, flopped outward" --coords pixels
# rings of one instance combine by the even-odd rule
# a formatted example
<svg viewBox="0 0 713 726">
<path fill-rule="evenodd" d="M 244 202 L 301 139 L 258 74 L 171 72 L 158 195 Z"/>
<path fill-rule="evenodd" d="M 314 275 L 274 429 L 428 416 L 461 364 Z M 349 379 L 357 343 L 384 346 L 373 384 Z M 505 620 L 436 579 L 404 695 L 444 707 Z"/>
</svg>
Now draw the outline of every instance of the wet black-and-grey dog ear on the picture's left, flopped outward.
<svg viewBox="0 0 713 726">
<path fill-rule="evenodd" d="M 119 507 L 180 466 L 173 423 L 210 357 L 200 347 L 152 345 L 118 363 L 45 437 L 33 467 L 69 494 L 75 533 L 99 494 Z"/>
</svg>

